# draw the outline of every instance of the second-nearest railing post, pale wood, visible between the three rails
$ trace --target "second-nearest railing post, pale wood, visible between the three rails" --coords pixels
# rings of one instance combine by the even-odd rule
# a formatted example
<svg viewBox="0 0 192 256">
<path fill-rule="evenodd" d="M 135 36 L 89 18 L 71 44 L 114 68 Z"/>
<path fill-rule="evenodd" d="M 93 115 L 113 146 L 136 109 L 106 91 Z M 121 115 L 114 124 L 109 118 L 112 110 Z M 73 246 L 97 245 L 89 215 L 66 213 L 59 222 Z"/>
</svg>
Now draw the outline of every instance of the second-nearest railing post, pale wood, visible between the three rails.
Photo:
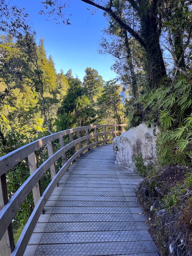
<svg viewBox="0 0 192 256">
<path fill-rule="evenodd" d="M 30 155 L 28 155 L 28 163 L 29 163 L 29 171 L 30 174 L 32 174 L 33 172 L 36 171 L 36 169 L 38 168 L 37 165 L 37 155 L 36 152 L 31 153 Z M 34 201 L 34 205 L 36 206 L 36 204 L 38 203 L 40 197 L 41 197 L 41 182 L 39 180 L 39 182 L 35 185 L 35 187 L 33 188 L 33 201 Z"/>
</svg>

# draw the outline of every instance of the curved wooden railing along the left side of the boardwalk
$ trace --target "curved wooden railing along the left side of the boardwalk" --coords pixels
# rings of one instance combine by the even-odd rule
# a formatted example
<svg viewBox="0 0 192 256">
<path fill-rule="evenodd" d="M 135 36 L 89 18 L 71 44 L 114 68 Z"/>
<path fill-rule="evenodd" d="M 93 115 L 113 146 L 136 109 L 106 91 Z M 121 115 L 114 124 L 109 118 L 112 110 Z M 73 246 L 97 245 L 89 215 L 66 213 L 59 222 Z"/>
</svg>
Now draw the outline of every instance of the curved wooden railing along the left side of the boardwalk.
<svg viewBox="0 0 192 256">
<path fill-rule="evenodd" d="M 62 175 L 67 171 L 70 164 L 82 153 L 90 148 L 97 147 L 100 144 L 106 144 L 112 141 L 117 133 L 123 132 L 125 124 L 107 124 L 92 125 L 68 129 L 57 132 L 39 140 L 33 141 L 11 153 L 0 157 L 0 255 L 23 255 L 33 229 L 36 226 L 39 216 L 43 212 L 44 206 L 51 195 L 53 189 L 57 186 Z M 102 131 L 101 131 L 102 130 Z M 82 134 L 85 136 L 82 137 Z M 65 145 L 64 136 L 68 136 L 71 141 Z M 74 139 L 74 137 L 78 139 Z M 94 139 L 92 139 L 94 138 Z M 54 153 L 53 143 L 60 140 L 60 149 Z M 90 140 L 93 140 L 90 142 Z M 83 147 L 82 144 L 86 146 Z M 37 151 L 47 146 L 48 158 L 37 166 Z M 71 157 L 67 160 L 66 152 L 71 150 Z M 16 164 L 28 157 L 28 165 L 30 176 L 20 186 L 20 188 L 8 200 L 6 172 L 13 168 Z M 62 167 L 56 172 L 55 163 L 62 158 Z M 51 182 L 40 194 L 39 180 L 47 170 L 51 171 Z M 33 199 L 35 208 L 25 225 L 17 244 L 14 244 L 12 232 L 12 220 L 20 209 L 21 204 L 25 201 L 29 193 L 33 191 Z"/>
</svg>

